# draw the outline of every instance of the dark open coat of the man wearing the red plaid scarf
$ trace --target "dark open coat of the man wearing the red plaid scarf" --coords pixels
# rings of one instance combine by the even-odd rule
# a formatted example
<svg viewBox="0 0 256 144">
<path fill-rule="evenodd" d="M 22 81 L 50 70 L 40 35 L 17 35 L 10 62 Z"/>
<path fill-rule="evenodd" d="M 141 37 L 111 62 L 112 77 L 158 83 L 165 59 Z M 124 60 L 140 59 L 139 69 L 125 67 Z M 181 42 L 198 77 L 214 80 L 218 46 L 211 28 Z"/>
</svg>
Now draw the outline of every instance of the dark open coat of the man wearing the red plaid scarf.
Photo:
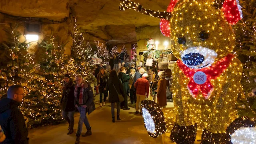
<svg viewBox="0 0 256 144">
<path fill-rule="evenodd" d="M 83 101 L 85 102 L 85 105 L 87 106 L 87 112 L 88 114 L 92 113 L 96 108 L 93 101 L 93 92 L 91 86 L 89 86 L 88 83 L 84 83 L 84 94 L 83 94 Z M 77 98 L 74 98 L 74 104 L 77 104 Z"/>
</svg>

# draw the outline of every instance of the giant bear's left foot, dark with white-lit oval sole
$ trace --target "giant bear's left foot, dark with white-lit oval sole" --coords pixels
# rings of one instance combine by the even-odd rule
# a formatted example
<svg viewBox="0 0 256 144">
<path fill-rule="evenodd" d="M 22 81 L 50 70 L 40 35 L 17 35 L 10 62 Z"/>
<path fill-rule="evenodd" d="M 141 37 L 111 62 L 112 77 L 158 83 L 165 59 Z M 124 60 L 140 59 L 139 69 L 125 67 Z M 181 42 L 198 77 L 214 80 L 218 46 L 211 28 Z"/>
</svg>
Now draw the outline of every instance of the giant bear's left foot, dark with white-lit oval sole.
<svg viewBox="0 0 256 144">
<path fill-rule="evenodd" d="M 141 107 L 145 128 L 148 131 L 148 134 L 153 138 L 157 138 L 165 133 L 166 124 L 164 113 L 160 109 L 160 106 L 151 100 L 143 100 L 141 102 Z"/>
</svg>

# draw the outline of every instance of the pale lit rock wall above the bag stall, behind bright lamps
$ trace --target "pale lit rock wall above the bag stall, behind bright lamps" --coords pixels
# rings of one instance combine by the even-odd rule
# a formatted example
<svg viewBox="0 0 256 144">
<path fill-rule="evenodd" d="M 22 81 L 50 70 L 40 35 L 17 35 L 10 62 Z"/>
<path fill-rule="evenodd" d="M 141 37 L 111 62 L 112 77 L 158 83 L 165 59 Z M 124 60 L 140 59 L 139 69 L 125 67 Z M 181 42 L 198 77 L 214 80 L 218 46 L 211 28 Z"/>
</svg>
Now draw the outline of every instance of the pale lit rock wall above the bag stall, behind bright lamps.
<svg viewBox="0 0 256 144">
<path fill-rule="evenodd" d="M 158 50 L 166 50 L 164 42 L 168 42 L 168 47 L 170 47 L 170 39 L 163 36 L 159 26 L 141 26 L 136 28 L 136 38 L 137 38 L 137 60 L 143 61 L 143 55 L 139 56 L 140 51 L 147 50 L 148 39 L 153 38 L 154 42 L 158 41 Z"/>
</svg>

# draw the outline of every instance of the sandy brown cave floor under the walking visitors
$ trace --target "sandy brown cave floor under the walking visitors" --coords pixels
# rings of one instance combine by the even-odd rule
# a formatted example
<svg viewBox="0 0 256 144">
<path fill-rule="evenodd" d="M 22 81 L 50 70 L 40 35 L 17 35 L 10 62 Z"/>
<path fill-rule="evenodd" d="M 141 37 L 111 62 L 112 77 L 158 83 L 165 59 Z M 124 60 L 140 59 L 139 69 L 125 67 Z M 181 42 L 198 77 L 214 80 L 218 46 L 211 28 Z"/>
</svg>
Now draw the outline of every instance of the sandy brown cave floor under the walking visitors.
<svg viewBox="0 0 256 144">
<path fill-rule="evenodd" d="M 92 126 L 92 135 L 81 137 L 80 144 L 161 144 L 161 137 L 150 138 L 142 116 L 134 115 L 135 109 L 121 110 L 121 121 L 112 123 L 110 104 L 99 108 L 96 97 L 97 109 L 88 116 Z M 129 101 L 128 101 L 129 102 Z M 129 104 L 131 106 L 131 104 Z M 134 104 L 133 104 L 134 106 Z M 115 109 L 116 110 L 116 109 Z M 74 129 L 77 130 L 79 114 L 75 114 Z M 75 133 L 67 135 L 68 123 L 57 126 L 46 126 L 30 130 L 30 144 L 74 144 Z M 83 126 L 83 133 L 86 132 Z"/>
</svg>

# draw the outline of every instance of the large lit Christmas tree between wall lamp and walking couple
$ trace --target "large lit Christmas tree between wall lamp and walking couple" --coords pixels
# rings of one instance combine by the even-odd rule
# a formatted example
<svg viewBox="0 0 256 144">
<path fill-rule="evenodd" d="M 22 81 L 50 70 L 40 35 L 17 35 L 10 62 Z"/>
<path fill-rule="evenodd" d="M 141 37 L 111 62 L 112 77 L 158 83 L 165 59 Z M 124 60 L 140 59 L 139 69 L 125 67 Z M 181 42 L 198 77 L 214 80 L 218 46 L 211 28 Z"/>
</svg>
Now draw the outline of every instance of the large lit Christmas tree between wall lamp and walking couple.
<svg viewBox="0 0 256 144">
<path fill-rule="evenodd" d="M 30 118 L 29 128 L 63 122 L 60 99 L 66 71 L 62 71 L 62 67 L 68 64 L 68 57 L 64 55 L 64 45 L 55 46 L 54 39 L 52 36 L 50 42 L 40 44 L 37 79 L 31 82 L 33 88 L 24 99 L 22 111 Z"/>
</svg>

